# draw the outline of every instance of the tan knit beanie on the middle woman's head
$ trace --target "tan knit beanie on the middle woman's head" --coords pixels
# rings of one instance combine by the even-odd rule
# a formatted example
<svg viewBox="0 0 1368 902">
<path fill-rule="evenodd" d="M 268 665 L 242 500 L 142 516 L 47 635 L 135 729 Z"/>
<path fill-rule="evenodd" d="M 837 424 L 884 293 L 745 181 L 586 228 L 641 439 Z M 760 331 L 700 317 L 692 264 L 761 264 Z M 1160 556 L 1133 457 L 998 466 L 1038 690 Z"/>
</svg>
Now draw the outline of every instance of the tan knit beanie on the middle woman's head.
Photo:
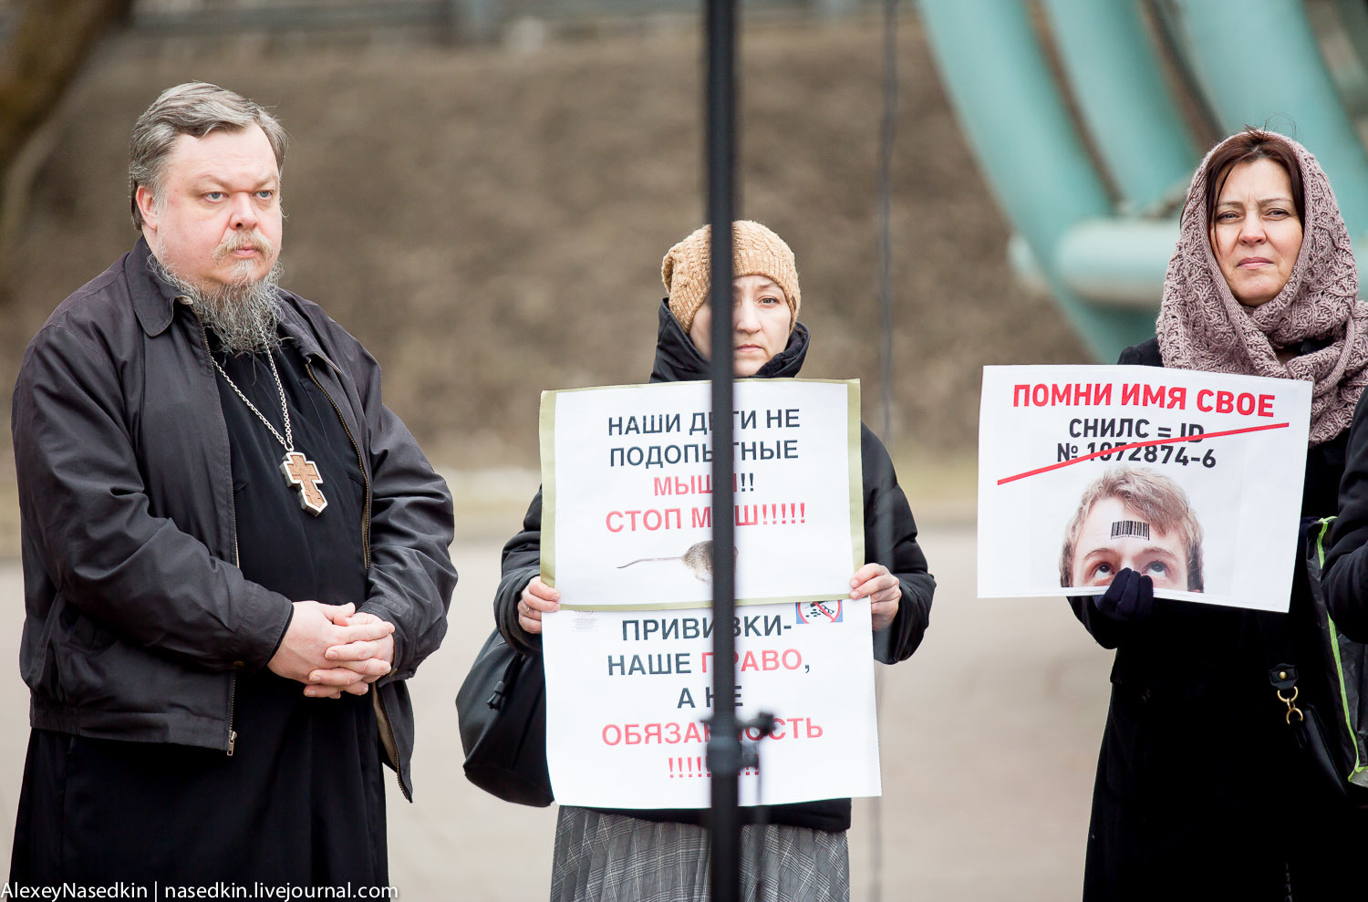
<svg viewBox="0 0 1368 902">
<path fill-rule="evenodd" d="M 713 259 L 709 252 L 710 235 L 711 229 L 703 226 L 670 248 L 661 261 L 661 281 L 670 294 L 670 312 L 684 331 L 694 326 L 694 315 L 707 300 L 709 267 Z M 784 300 L 788 301 L 791 313 L 788 330 L 792 333 L 798 324 L 802 296 L 798 292 L 793 252 L 784 240 L 758 222 L 737 219 L 732 223 L 732 267 L 733 278 L 763 275 L 784 289 Z"/>
</svg>

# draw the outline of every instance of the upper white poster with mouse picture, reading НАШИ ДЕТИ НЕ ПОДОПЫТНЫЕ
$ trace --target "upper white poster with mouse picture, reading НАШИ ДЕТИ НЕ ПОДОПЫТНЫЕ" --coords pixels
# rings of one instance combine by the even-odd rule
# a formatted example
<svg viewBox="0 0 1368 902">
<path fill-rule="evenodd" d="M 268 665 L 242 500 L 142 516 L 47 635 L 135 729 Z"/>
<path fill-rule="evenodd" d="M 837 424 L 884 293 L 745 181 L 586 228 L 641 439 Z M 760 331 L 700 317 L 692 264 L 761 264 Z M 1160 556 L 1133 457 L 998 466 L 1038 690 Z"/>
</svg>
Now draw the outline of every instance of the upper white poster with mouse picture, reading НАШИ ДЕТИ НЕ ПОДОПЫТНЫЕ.
<svg viewBox="0 0 1368 902">
<path fill-rule="evenodd" d="M 739 605 L 850 591 L 865 560 L 859 383 L 739 381 Z M 570 608 L 713 598 L 706 382 L 542 394 L 542 578 Z"/>
</svg>

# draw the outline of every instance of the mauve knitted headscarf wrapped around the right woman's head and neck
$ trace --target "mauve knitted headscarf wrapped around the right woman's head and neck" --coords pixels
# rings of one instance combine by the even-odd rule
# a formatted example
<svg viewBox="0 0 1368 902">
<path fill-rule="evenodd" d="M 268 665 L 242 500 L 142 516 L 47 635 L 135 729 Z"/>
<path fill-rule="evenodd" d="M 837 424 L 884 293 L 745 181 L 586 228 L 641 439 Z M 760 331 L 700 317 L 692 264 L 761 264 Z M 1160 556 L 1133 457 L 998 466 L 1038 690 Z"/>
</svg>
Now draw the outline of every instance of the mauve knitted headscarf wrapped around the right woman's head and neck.
<svg viewBox="0 0 1368 902">
<path fill-rule="evenodd" d="M 1283 136 L 1271 137 L 1295 153 L 1305 194 L 1301 250 L 1291 276 L 1259 307 L 1245 307 L 1231 294 L 1212 253 L 1207 222 L 1207 160 L 1223 141 L 1197 167 L 1187 190 L 1155 331 L 1166 367 L 1313 383 L 1311 443 L 1320 445 L 1349 426 L 1368 385 L 1368 308 L 1358 302 L 1349 230 L 1326 172 L 1306 148 Z M 1286 364 L 1278 361 L 1275 349 L 1308 338 L 1330 344 Z"/>
</svg>

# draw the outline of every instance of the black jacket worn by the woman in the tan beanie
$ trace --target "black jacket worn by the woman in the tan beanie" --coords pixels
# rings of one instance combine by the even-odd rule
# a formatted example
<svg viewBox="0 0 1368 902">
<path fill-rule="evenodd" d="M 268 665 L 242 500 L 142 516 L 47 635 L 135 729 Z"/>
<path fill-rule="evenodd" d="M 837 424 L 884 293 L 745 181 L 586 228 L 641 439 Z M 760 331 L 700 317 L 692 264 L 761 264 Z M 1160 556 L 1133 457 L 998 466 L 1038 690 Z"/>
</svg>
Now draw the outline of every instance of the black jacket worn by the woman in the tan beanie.
<svg viewBox="0 0 1368 902">
<path fill-rule="evenodd" d="M 792 378 L 807 356 L 807 327 L 793 328 L 788 348 L 761 367 L 758 378 Z M 680 327 L 679 320 L 662 301 L 659 333 L 655 345 L 655 365 L 651 382 L 684 382 L 709 379 L 709 361 Z M 893 463 L 882 442 L 860 424 L 860 464 L 865 476 L 865 560 L 880 561 L 903 584 L 903 600 L 897 616 L 888 628 L 874 634 L 874 657 L 885 664 L 906 660 L 917 650 L 930 620 L 932 594 L 936 580 L 926 572 L 926 557 L 917 545 L 917 523 L 907 506 L 907 498 L 897 486 Z M 880 547 L 885 552 L 880 553 Z M 503 578 L 494 595 L 494 619 L 505 641 L 525 654 L 540 654 L 542 638 L 523 631 L 517 623 L 517 602 L 542 567 L 542 493 L 523 519 L 523 531 L 503 546 Z M 766 809 L 769 821 L 826 831 L 848 829 L 851 824 L 850 799 L 826 799 L 777 805 Z M 627 810 L 632 817 L 655 821 L 698 824 L 707 809 Z M 755 809 L 743 808 L 744 823 L 754 823 Z"/>
</svg>

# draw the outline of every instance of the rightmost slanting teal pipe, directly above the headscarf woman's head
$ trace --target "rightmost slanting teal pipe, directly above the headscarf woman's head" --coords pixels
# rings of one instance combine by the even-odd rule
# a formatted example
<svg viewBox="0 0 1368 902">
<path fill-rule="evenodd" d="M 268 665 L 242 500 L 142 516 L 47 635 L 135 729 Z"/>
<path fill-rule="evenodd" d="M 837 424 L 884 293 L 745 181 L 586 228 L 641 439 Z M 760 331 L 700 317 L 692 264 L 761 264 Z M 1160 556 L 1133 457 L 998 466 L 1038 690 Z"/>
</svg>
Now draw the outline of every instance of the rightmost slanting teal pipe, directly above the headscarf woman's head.
<svg viewBox="0 0 1368 902">
<path fill-rule="evenodd" d="M 1290 133 L 1330 177 L 1349 234 L 1368 235 L 1368 153 L 1295 0 L 1176 0 L 1178 21 L 1226 131 Z"/>
</svg>

